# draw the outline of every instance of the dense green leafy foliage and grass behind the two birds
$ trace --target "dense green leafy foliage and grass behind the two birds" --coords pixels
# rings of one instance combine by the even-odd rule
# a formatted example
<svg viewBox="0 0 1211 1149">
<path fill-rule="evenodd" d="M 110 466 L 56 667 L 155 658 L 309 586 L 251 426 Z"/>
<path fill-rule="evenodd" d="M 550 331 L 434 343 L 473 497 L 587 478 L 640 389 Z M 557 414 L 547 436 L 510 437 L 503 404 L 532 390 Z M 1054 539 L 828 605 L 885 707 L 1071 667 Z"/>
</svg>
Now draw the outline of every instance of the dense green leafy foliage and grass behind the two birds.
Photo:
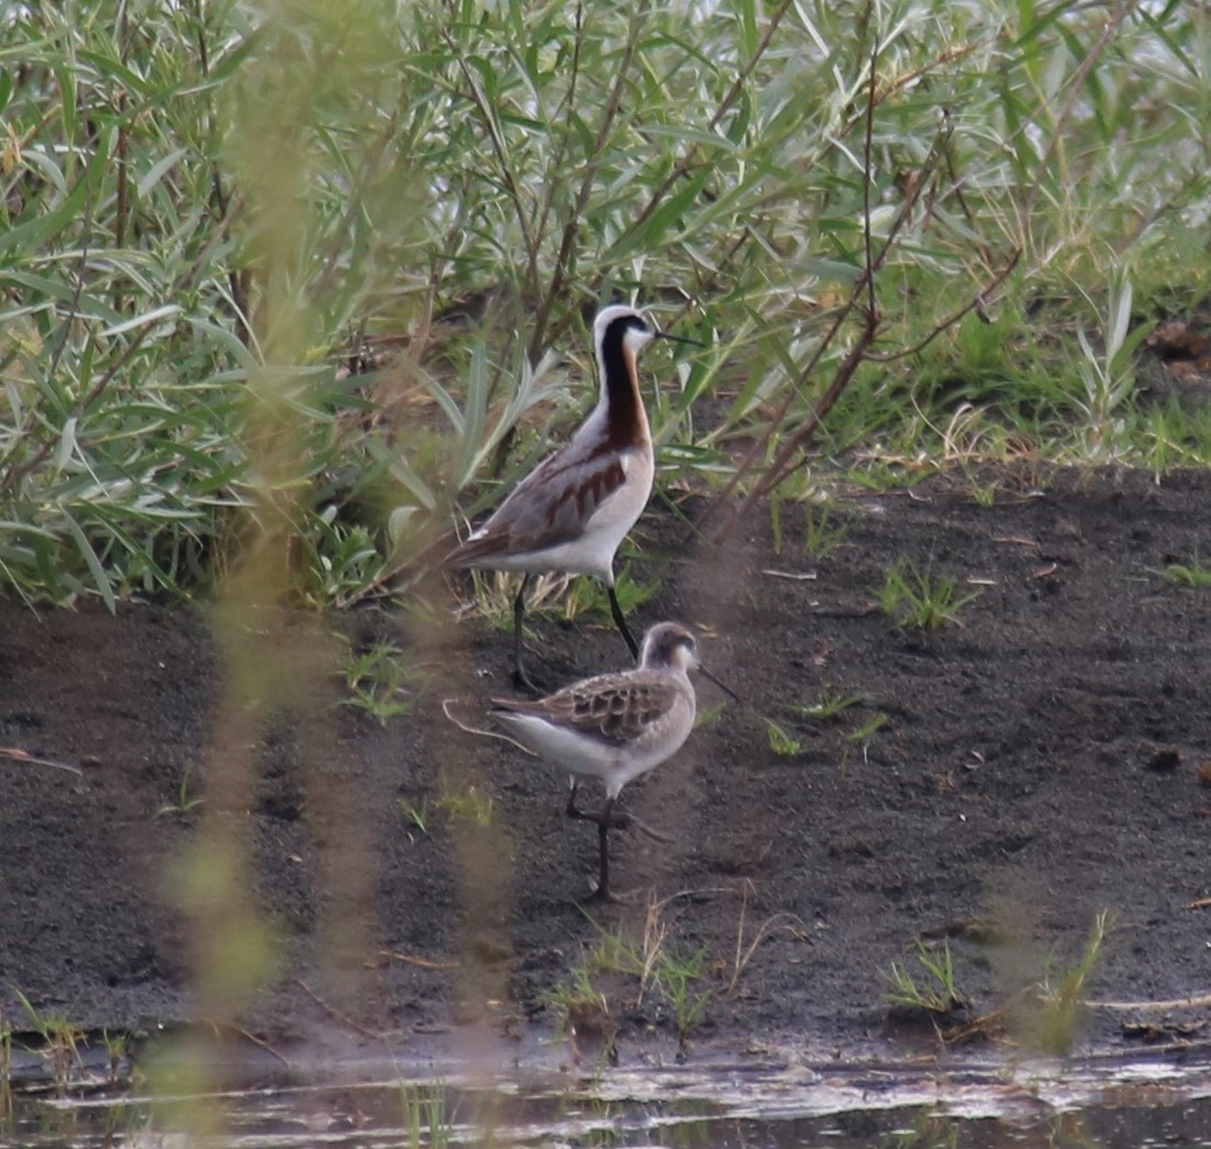
<svg viewBox="0 0 1211 1149">
<path fill-rule="evenodd" d="M 0 45 L 30 600 L 189 591 L 258 538 L 303 601 L 378 591 L 580 416 L 615 297 L 707 343 L 644 361 L 660 481 L 747 485 L 805 441 L 868 250 L 878 338 L 817 436 L 855 478 L 946 457 L 957 404 L 993 452 L 1211 461 L 1132 371 L 1207 290 L 1196 5 L 102 10 L 18 5 Z"/>
</svg>

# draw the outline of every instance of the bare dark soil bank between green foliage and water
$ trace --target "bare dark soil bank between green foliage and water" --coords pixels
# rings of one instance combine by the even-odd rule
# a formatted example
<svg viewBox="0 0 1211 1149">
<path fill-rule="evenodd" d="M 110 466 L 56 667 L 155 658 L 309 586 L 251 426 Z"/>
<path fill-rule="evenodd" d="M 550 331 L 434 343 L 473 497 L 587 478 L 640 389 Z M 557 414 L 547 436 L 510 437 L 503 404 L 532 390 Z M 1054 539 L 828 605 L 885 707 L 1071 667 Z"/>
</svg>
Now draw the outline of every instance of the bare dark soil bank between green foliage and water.
<svg viewBox="0 0 1211 1149">
<path fill-rule="evenodd" d="M 1113 927 L 1086 996 L 1211 989 L 1211 590 L 1158 573 L 1211 559 L 1211 475 L 1001 471 L 980 490 L 992 505 L 960 476 L 853 495 L 832 511 L 843 541 L 817 559 L 803 507 L 782 509 L 781 553 L 768 514 L 714 549 L 689 545 L 671 515 L 641 524 L 630 570 L 661 589 L 635 622 L 695 627 L 704 661 L 751 709 L 699 684 L 713 721 L 621 799 L 673 841 L 615 834 L 613 878 L 632 898 L 586 909 L 637 947 L 645 924 L 666 931 L 666 953 L 705 947 L 689 988 L 712 997 L 695 1041 L 905 1040 L 880 971 L 899 962 L 928 981 L 918 938 L 948 938 L 968 1016 L 1009 1005 L 993 1040 L 1023 1041 L 1029 987 L 1058 984 L 1102 911 Z M 980 591 L 958 624 L 901 630 L 878 610 L 902 558 Z M 448 617 L 453 595 L 434 600 L 430 617 Z M 383 725 L 314 673 L 332 629 L 360 648 L 420 642 L 419 624 L 378 611 L 236 628 L 251 681 L 286 679 L 276 703 L 249 709 L 229 701 L 246 687 L 201 608 L 0 605 L 0 748 L 81 772 L 0 759 L 4 1019 L 30 1025 L 16 990 L 82 1027 L 213 1019 L 190 971 L 207 945 L 235 962 L 226 905 L 189 925 L 183 859 L 195 840 L 243 834 L 280 962 L 239 1011 L 249 1033 L 285 1048 L 333 1033 L 407 1047 L 474 1019 L 506 1036 L 556 1030 L 545 995 L 601 937 L 576 904 L 595 830 L 563 818 L 561 774 L 441 709 L 452 699 L 484 725 L 487 698 L 510 690 L 509 635 L 430 624 L 418 657 L 435 687 Z M 626 663 L 602 625 L 538 617 L 533 629 L 549 685 Z M 830 696 L 860 701 L 830 720 L 797 709 Z M 775 753 L 765 719 L 797 753 Z M 490 796 L 492 824 L 440 810 L 443 785 Z M 401 799 L 426 810 L 425 831 Z M 635 978 L 598 977 L 624 1056 L 675 1036 L 671 984 L 641 995 Z M 1171 1040 L 1206 1017 L 1098 1007 L 1080 1040 Z"/>
</svg>

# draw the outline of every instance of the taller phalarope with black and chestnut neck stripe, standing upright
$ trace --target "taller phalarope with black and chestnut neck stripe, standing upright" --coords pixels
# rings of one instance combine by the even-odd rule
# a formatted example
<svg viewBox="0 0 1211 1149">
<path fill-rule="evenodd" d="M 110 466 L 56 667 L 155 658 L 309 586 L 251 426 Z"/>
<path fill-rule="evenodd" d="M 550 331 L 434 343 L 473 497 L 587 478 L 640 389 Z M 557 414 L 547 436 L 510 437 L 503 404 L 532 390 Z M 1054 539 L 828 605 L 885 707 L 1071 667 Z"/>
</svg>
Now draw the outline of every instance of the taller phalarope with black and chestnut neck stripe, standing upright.
<svg viewBox="0 0 1211 1149">
<path fill-rule="evenodd" d="M 513 678 L 538 693 L 522 667 L 526 588 L 544 571 L 591 574 L 606 584 L 614 623 L 637 657 L 614 591 L 614 553 L 652 493 L 648 413 L 637 360 L 658 331 L 630 307 L 608 307 L 593 322 L 601 398 L 572 441 L 523 479 L 495 513 L 446 558 L 455 567 L 523 572 L 513 600 Z"/>
</svg>

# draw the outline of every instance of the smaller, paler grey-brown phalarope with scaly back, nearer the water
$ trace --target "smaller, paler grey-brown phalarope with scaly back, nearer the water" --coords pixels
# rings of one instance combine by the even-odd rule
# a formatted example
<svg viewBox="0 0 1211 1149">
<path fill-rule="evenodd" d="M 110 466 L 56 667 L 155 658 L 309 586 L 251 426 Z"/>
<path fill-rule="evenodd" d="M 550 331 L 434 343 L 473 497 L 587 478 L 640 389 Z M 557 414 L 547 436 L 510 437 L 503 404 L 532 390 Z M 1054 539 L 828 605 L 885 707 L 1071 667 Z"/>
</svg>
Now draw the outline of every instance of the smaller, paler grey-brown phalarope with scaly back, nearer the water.
<svg viewBox="0 0 1211 1149">
<path fill-rule="evenodd" d="M 698 644 L 678 623 L 659 623 L 643 636 L 639 665 L 574 682 L 535 702 L 492 699 L 492 714 L 526 749 L 572 774 L 566 813 L 597 823 L 601 850 L 595 897 L 609 898 L 610 827 L 635 823 L 653 838 L 661 835 L 637 818 L 614 813 L 619 791 L 632 778 L 671 758 L 694 728 L 696 701 L 690 670 L 701 670 L 728 690 L 698 661 Z M 735 698 L 735 694 L 731 694 Z M 601 778 L 606 806 L 599 814 L 576 806 L 579 778 Z"/>
</svg>

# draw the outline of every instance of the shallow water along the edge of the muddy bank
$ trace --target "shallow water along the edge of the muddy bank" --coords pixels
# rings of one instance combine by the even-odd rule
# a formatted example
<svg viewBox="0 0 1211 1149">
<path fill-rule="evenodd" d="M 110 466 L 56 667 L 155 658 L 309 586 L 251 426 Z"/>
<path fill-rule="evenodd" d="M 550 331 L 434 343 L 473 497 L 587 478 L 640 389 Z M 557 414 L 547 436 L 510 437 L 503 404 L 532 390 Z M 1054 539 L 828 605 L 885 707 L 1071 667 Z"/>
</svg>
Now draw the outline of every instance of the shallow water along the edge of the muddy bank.
<svg viewBox="0 0 1211 1149">
<path fill-rule="evenodd" d="M 222 1093 L 153 1098 L 130 1082 L 82 1080 L 61 1094 L 51 1081 L 31 1081 L 0 1094 L 0 1145 L 1211 1147 L 1209 1051 L 1077 1064 L 784 1062 L 518 1073 L 490 1087 L 363 1064 L 331 1070 L 326 1082 L 279 1075 Z M 223 1132 L 196 1133 L 200 1114 L 220 1116 Z"/>
</svg>

